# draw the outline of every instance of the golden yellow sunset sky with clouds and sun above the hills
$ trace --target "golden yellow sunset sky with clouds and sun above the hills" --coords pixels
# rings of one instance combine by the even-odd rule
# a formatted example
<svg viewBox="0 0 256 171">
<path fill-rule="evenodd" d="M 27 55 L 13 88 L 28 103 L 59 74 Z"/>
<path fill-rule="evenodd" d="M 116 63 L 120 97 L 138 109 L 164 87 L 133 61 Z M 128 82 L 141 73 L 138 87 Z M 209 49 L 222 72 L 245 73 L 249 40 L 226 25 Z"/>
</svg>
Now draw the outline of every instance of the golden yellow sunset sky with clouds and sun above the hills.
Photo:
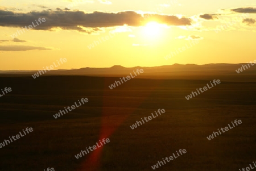
<svg viewBox="0 0 256 171">
<path fill-rule="evenodd" d="M 255 0 L 0 0 L 0 70 L 254 61 Z"/>
</svg>

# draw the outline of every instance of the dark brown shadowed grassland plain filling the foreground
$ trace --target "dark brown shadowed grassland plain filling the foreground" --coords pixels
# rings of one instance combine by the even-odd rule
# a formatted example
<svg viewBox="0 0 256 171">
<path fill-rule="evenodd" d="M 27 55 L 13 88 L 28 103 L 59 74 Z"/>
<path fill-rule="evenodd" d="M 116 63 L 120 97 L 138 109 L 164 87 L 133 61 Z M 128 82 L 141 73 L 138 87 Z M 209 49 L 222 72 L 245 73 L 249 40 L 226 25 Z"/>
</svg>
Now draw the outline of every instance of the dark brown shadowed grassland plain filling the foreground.
<svg viewBox="0 0 256 171">
<path fill-rule="evenodd" d="M 188 101 L 185 96 L 212 80 L 133 79 L 110 90 L 115 80 L 0 78 L 0 89 L 13 89 L 0 97 L 0 143 L 26 127 L 34 130 L 0 149 L 0 170 L 153 170 L 179 149 L 187 153 L 156 170 L 239 170 L 256 160 L 256 82 L 221 82 Z M 53 118 L 81 98 L 89 102 Z M 158 109 L 166 113 L 131 130 Z M 242 124 L 207 139 L 236 119 Z M 102 137 L 110 143 L 96 160 L 90 160 L 93 152 L 75 158 Z"/>
</svg>

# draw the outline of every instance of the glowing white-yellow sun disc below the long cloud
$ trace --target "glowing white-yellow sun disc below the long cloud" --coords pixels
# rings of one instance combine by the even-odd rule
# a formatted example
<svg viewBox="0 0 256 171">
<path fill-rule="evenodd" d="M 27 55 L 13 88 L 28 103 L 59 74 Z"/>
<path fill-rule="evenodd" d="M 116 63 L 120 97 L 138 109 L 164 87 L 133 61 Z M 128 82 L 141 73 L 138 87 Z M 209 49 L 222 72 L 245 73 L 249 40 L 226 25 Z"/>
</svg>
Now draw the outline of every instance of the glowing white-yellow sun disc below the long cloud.
<svg viewBox="0 0 256 171">
<path fill-rule="evenodd" d="M 144 26 L 143 32 L 148 38 L 158 37 L 161 32 L 161 24 L 149 22 Z"/>
</svg>

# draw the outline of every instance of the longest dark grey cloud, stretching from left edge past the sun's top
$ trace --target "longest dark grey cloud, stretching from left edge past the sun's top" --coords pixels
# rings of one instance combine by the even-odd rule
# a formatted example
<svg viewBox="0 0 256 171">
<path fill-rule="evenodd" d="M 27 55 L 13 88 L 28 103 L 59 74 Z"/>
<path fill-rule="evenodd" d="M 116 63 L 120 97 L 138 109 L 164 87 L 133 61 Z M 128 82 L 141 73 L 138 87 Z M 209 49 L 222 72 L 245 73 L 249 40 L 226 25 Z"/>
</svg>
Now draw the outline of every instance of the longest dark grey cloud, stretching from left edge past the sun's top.
<svg viewBox="0 0 256 171">
<path fill-rule="evenodd" d="M 143 26 L 150 20 L 156 20 L 170 26 L 187 26 L 191 25 L 192 22 L 189 18 L 159 14 L 150 14 L 150 17 L 144 19 L 141 14 L 134 11 L 85 13 L 83 11 L 56 9 L 55 11 L 32 11 L 23 14 L 0 10 L 0 26 L 3 27 L 25 27 L 32 25 L 32 22 L 36 25 L 35 20 L 38 20 L 38 18 L 45 18 L 46 22 L 39 24 L 33 28 L 34 30 L 52 30 L 52 28 L 59 27 L 63 30 L 77 30 L 80 32 L 86 32 L 82 27 L 114 27 L 123 26 L 123 24 Z"/>
</svg>

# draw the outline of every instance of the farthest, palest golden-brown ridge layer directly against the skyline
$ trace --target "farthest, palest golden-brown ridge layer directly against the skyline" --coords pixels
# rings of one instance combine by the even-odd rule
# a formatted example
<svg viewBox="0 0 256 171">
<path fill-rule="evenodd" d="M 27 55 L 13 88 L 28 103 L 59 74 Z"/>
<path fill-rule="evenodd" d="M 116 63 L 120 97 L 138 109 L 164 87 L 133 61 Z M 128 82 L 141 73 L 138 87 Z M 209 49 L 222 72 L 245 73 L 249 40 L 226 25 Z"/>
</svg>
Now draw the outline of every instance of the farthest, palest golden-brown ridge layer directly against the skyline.
<svg viewBox="0 0 256 171">
<path fill-rule="evenodd" d="M 80 69 L 58 69 L 48 71 L 46 74 L 120 74 L 125 72 L 133 72 L 134 69 L 142 68 L 145 73 L 159 73 L 159 72 L 195 72 L 195 71 L 205 71 L 205 72 L 235 72 L 236 69 L 241 68 L 242 65 L 247 64 L 205 64 L 205 65 L 196 65 L 196 64 L 173 64 L 173 65 L 163 65 L 163 66 L 152 66 L 152 67 L 143 67 L 143 66 L 134 66 L 131 68 L 126 68 L 121 65 L 114 65 L 110 68 L 80 68 Z M 189 70 L 188 70 L 189 69 Z M 256 65 L 251 66 L 250 70 L 256 70 Z M 43 70 L 43 69 L 42 69 Z M 38 72 L 38 70 L 0 70 L 0 73 L 33 73 Z"/>
</svg>

